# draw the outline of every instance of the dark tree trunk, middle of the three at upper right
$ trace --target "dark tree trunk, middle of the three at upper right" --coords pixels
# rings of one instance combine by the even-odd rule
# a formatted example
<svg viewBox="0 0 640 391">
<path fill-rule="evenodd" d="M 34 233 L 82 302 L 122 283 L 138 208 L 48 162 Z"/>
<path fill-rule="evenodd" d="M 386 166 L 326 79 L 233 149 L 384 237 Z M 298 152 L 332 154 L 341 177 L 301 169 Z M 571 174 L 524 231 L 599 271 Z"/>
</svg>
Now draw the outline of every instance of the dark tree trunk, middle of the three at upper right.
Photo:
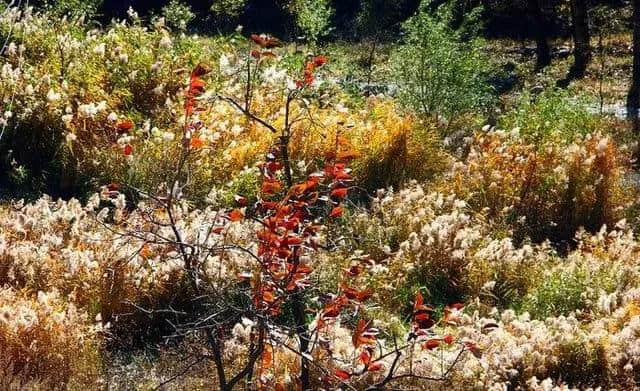
<svg viewBox="0 0 640 391">
<path fill-rule="evenodd" d="M 589 20 L 587 16 L 588 0 L 571 0 L 571 18 L 573 20 L 574 63 L 569 70 L 568 79 L 584 77 L 591 60 L 589 44 Z"/>
</svg>

